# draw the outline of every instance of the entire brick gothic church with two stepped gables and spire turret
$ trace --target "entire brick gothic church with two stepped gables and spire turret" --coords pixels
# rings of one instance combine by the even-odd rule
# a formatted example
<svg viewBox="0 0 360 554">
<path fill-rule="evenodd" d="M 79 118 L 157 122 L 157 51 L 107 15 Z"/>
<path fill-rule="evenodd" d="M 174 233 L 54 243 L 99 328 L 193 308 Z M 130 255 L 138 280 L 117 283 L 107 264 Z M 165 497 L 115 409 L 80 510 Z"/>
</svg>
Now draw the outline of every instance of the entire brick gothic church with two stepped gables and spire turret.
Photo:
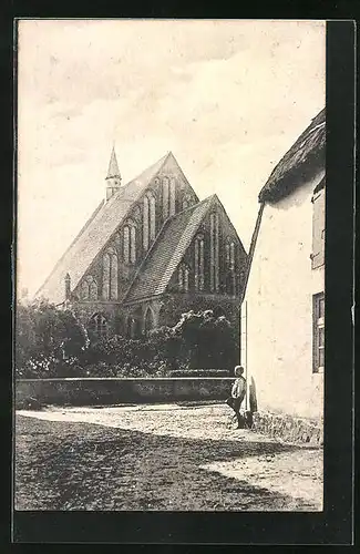
<svg viewBox="0 0 360 554">
<path fill-rule="evenodd" d="M 216 194 L 199 202 L 172 153 L 123 185 L 113 148 L 105 181 L 35 296 L 70 302 L 91 337 L 137 338 L 191 309 L 238 328 L 247 254 Z"/>
</svg>

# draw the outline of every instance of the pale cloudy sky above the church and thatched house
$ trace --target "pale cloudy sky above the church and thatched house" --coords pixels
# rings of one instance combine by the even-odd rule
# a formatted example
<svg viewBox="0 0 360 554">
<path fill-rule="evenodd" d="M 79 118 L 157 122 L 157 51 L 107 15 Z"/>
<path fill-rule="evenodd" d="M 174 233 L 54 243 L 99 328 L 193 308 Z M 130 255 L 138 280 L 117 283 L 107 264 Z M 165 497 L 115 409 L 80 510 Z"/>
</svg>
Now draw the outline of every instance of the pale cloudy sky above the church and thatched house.
<svg viewBox="0 0 360 554">
<path fill-rule="evenodd" d="M 325 106 L 325 22 L 21 20 L 17 286 L 33 295 L 105 195 L 172 151 L 248 252 L 258 193 Z"/>
</svg>

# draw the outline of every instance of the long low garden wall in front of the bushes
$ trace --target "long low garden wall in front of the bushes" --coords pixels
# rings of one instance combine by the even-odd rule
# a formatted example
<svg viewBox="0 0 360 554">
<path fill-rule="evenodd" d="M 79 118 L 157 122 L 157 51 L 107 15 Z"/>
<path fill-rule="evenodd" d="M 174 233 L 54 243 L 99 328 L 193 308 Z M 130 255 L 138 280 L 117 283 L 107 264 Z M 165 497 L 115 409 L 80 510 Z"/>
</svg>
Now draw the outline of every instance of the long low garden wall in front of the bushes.
<svg viewBox="0 0 360 554">
<path fill-rule="evenodd" d="M 16 382 L 16 406 L 21 408 L 29 401 L 89 406 L 225 400 L 233 381 L 226 377 L 20 379 Z"/>
</svg>

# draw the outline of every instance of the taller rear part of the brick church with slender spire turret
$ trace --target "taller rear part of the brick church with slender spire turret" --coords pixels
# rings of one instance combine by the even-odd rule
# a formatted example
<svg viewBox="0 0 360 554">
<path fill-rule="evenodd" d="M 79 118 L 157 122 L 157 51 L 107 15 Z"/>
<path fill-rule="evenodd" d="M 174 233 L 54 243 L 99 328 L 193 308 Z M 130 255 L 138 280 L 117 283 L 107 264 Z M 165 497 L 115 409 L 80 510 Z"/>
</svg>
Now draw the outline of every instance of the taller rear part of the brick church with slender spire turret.
<svg viewBox="0 0 360 554">
<path fill-rule="evenodd" d="M 114 150 L 106 201 L 82 228 L 37 296 L 65 299 L 65 275 L 78 301 L 121 301 L 166 220 L 198 198 L 172 153 L 121 186 Z"/>
</svg>

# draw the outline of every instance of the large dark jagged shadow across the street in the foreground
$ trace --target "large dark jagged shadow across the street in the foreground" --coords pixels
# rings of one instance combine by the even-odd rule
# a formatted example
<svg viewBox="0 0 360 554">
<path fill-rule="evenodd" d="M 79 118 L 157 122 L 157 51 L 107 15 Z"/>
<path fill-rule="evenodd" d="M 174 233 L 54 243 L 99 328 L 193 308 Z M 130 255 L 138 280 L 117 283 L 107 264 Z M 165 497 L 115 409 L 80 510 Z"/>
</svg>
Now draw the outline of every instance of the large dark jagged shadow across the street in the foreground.
<svg viewBox="0 0 360 554">
<path fill-rule="evenodd" d="M 16 507 L 291 510 L 290 496 L 199 465 L 297 449 L 275 442 L 183 439 L 18 416 Z M 311 507 L 299 500 L 299 510 Z"/>
</svg>

